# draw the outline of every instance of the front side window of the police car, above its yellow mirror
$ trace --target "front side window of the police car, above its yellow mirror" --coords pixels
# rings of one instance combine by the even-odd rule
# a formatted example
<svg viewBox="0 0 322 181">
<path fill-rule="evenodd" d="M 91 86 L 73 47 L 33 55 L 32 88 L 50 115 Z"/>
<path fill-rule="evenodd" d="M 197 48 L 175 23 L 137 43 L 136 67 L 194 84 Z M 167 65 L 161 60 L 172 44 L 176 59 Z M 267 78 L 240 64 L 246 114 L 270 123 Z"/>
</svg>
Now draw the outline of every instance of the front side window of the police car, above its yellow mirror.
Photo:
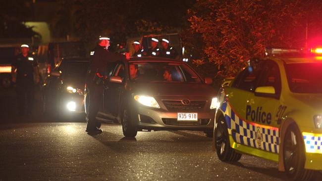
<svg viewBox="0 0 322 181">
<path fill-rule="evenodd" d="M 263 71 L 261 71 L 261 78 L 257 87 L 272 86 L 275 89 L 276 95 L 279 95 L 281 91 L 281 81 L 278 65 L 271 60 L 265 61 L 266 63 L 263 66 Z"/>
</svg>

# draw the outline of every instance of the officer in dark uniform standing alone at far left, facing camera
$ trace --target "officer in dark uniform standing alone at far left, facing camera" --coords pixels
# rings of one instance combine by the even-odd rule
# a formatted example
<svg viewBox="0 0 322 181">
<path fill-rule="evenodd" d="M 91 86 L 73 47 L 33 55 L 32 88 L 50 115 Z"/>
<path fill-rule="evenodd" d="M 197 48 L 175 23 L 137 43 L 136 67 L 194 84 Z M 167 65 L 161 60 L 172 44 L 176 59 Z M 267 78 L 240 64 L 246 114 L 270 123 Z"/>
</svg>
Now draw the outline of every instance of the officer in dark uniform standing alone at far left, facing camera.
<svg viewBox="0 0 322 181">
<path fill-rule="evenodd" d="M 21 45 L 21 53 L 15 57 L 11 64 L 12 82 L 16 83 L 18 113 L 20 115 L 31 114 L 34 82 L 39 83 L 38 64 L 28 52 L 29 46 Z"/>
</svg>

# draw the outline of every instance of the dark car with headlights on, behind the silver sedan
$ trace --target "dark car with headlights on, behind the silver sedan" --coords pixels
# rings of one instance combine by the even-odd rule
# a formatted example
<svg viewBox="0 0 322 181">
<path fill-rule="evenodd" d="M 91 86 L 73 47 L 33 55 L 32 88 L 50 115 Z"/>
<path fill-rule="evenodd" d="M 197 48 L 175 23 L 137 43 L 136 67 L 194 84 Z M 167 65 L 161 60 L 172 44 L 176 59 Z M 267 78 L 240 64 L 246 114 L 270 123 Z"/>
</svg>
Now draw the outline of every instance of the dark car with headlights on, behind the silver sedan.
<svg viewBox="0 0 322 181">
<path fill-rule="evenodd" d="M 84 113 L 84 85 L 89 60 L 62 59 L 45 80 L 42 88 L 45 113 Z"/>
</svg>

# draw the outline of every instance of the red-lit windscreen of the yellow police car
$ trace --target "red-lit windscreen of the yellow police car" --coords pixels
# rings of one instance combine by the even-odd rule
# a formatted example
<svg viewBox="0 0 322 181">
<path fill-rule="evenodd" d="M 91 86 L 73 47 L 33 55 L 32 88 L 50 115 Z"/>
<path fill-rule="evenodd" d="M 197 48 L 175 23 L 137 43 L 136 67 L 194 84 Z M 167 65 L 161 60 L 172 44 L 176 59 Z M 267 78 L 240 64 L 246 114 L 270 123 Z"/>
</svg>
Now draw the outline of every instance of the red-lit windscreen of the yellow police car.
<svg viewBox="0 0 322 181">
<path fill-rule="evenodd" d="M 294 93 L 322 93 L 322 63 L 286 64 L 289 88 Z"/>
</svg>

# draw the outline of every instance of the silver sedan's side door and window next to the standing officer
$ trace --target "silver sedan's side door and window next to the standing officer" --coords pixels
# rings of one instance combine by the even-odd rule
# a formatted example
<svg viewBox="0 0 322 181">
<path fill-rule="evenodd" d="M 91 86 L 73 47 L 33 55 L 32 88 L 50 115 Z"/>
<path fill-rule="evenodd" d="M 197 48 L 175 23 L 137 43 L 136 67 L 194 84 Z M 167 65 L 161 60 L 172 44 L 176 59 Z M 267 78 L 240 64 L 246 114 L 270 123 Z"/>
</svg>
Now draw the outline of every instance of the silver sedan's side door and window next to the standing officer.
<svg viewBox="0 0 322 181">
<path fill-rule="evenodd" d="M 111 76 L 120 77 L 123 81 L 125 80 L 125 66 L 123 63 L 118 63 Z M 112 117 L 117 116 L 119 100 L 121 92 L 124 88 L 124 83 L 107 83 L 104 88 L 104 112 Z"/>
</svg>

